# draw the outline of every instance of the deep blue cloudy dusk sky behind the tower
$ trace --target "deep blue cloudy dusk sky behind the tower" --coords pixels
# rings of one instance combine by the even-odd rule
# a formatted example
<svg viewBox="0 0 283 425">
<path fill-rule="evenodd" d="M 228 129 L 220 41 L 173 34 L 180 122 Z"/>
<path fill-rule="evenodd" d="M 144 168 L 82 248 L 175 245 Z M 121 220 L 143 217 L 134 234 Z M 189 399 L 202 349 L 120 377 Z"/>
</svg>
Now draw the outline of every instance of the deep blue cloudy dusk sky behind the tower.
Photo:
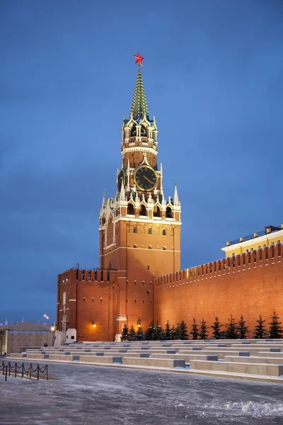
<svg viewBox="0 0 283 425">
<path fill-rule="evenodd" d="M 283 222 L 283 1 L 0 4 L 0 322 L 56 320 L 57 273 L 98 267 L 141 69 L 182 268 Z"/>
</svg>

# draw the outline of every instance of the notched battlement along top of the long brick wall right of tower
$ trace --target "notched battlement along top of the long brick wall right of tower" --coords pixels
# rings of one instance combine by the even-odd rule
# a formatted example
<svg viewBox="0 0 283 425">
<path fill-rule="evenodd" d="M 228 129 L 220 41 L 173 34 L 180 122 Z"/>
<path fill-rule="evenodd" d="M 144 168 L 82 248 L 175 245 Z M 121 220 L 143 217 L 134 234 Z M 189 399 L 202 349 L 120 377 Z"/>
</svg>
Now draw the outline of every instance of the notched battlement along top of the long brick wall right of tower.
<svg viewBox="0 0 283 425">
<path fill-rule="evenodd" d="M 172 285 L 173 283 L 192 283 L 197 280 L 204 280 L 207 278 L 216 278 L 217 276 L 229 276 L 233 273 L 249 270 L 250 268 L 257 268 L 268 266 L 274 263 L 280 263 L 282 259 L 282 244 L 276 246 L 267 246 L 264 249 L 250 251 L 237 256 L 229 257 L 212 261 L 210 263 L 202 264 L 185 268 L 175 273 L 169 273 L 164 276 L 154 278 L 154 287 L 160 289 Z"/>
</svg>

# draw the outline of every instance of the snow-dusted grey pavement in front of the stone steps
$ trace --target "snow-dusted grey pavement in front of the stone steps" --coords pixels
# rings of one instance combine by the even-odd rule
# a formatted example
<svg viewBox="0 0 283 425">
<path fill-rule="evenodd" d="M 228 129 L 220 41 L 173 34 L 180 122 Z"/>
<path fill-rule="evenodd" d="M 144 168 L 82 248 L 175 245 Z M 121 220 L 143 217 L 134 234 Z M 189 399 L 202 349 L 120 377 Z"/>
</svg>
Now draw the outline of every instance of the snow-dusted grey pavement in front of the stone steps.
<svg viewBox="0 0 283 425">
<path fill-rule="evenodd" d="M 43 363 L 40 363 L 43 365 Z M 50 363 L 58 380 L 0 376 L 1 425 L 283 424 L 283 385 Z"/>
</svg>

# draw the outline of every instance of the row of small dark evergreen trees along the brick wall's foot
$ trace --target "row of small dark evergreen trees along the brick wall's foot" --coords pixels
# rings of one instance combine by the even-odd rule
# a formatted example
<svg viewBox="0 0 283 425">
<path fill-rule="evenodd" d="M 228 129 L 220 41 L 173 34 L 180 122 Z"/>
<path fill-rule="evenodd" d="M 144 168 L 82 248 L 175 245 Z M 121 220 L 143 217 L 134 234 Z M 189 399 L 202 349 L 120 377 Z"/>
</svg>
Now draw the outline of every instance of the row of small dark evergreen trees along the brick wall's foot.
<svg viewBox="0 0 283 425">
<path fill-rule="evenodd" d="M 270 316 L 269 329 L 267 330 L 265 327 L 265 320 L 262 319 L 260 314 L 257 324 L 253 329 L 253 332 L 248 330 L 246 326 L 246 320 L 243 319 L 243 315 L 240 317 L 238 323 L 235 322 L 235 319 L 231 315 L 229 317 L 228 322 L 225 324 L 221 324 L 219 322 L 218 317 L 215 317 L 215 321 L 212 324 L 212 338 L 213 339 L 247 339 L 255 338 L 255 339 L 265 339 L 265 338 L 282 338 L 283 329 L 282 322 L 279 322 L 279 316 L 276 312 L 273 312 L 272 316 Z M 224 327 L 222 330 L 221 328 Z M 162 329 L 161 325 L 156 323 L 156 325 L 151 324 L 148 329 L 144 332 L 141 327 L 135 331 L 132 326 L 130 329 L 125 327 L 122 330 L 121 341 L 158 341 L 164 339 L 190 339 L 189 334 L 191 335 L 191 339 L 207 339 L 209 331 L 207 330 L 207 322 L 202 319 L 200 324 L 197 324 L 195 318 L 192 319 L 192 330 L 190 332 L 187 331 L 187 325 L 182 320 L 182 322 L 178 323 L 177 327 L 170 325 L 167 321 L 165 325 L 165 329 Z"/>
</svg>

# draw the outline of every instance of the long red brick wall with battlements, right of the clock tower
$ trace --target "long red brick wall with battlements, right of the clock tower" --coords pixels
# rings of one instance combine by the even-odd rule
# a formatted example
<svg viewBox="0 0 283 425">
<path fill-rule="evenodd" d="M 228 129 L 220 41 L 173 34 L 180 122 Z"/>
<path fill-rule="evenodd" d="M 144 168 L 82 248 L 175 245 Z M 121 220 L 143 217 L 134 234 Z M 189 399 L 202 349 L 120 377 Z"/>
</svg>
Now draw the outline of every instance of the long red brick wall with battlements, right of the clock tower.
<svg viewBox="0 0 283 425">
<path fill-rule="evenodd" d="M 281 254 L 281 245 L 271 246 L 154 278 L 154 321 L 184 320 L 191 329 L 193 317 L 210 326 L 216 316 L 225 324 L 243 314 L 253 329 L 259 314 L 269 322 L 275 310 L 283 319 Z"/>
</svg>

